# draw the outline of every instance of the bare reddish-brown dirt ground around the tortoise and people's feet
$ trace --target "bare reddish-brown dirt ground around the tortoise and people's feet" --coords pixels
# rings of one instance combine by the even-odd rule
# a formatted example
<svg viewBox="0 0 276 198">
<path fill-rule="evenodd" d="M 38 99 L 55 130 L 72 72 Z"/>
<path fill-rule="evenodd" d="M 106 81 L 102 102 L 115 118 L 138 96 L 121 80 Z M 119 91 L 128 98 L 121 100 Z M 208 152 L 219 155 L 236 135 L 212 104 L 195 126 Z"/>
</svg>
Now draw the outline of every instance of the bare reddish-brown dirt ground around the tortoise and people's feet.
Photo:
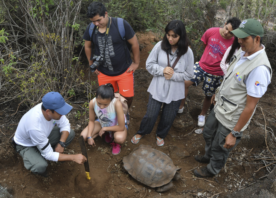
<svg viewBox="0 0 276 198">
<path fill-rule="evenodd" d="M 197 127 L 197 116 L 201 111 L 204 99 L 201 86 L 190 88 L 184 112 L 177 115 L 168 136 L 164 139 L 164 146 L 156 145 L 155 130 L 157 125 L 155 125 L 153 132 L 144 136 L 137 145 L 131 143 L 130 140 L 139 129 L 142 117 L 146 112 L 147 88 L 152 76 L 145 70 L 145 62 L 149 55 L 148 52 L 156 41 L 155 36 L 149 32 L 137 35 L 143 48 L 140 54 L 140 68 L 134 73 L 135 96 L 130 107 L 131 120 L 127 131 L 128 137 L 121 147 L 121 153 L 116 156 L 112 155 L 111 147 L 100 137 L 95 139 L 95 147 L 87 145 L 91 180 L 86 179 L 84 166 L 73 162 L 49 161 L 50 176 L 48 178 L 34 175 L 26 170 L 22 158 L 14 153 L 9 144 L 10 137 L 15 132 L 24 111 L 20 110 L 15 117 L 10 116 L 16 111 L 19 102 L 0 107 L 0 185 L 5 187 L 14 197 L 145 198 L 168 195 L 171 195 L 170 197 L 225 197 L 229 193 L 237 191 L 240 187 L 271 172 L 273 165 L 258 171 L 264 164 L 254 163 L 263 163 L 263 161 L 255 159 L 262 158 L 264 154 L 271 156 L 266 151 L 266 142 L 269 144 L 270 150 L 273 153 L 275 151 L 274 134 L 267 132 L 267 140 L 265 140 L 263 127 L 265 116 L 266 124 L 270 127 L 269 130 L 276 130 L 275 75 L 273 75 L 272 82 L 268 86 L 267 93 L 258 104 L 263 108 L 264 116 L 261 109 L 257 108 L 253 117 L 254 121 L 251 121 L 249 128 L 244 132 L 244 138 L 236 149 L 230 153 L 230 157 L 251 164 L 229 158 L 223 170 L 215 177 L 202 179 L 195 178 L 192 174 L 193 169 L 205 165 L 198 163 L 193 157 L 198 153 L 203 154 L 205 145 L 202 135 L 192 132 L 195 128 L 199 128 Z M 92 78 L 97 82 L 96 76 L 92 75 Z M 87 125 L 85 120 L 88 116 L 87 113 L 83 115 L 82 105 L 83 103 L 73 103 L 74 108 L 68 115 L 71 126 L 76 132 L 76 137 L 72 144 L 66 148 L 65 153 L 67 154 L 80 153 L 77 139 L 81 130 Z M 123 157 L 140 144 L 150 145 L 152 148 L 166 153 L 176 166 L 182 167 L 180 171 L 182 177 L 180 180 L 173 182 L 174 186 L 171 190 L 165 193 L 157 193 L 153 188 L 138 183 L 130 175 L 122 172 Z M 251 149 L 253 150 L 251 151 Z M 262 187 L 259 185 L 253 195 L 258 195 L 261 188 L 268 189 L 269 187 L 269 185 Z"/>
</svg>

